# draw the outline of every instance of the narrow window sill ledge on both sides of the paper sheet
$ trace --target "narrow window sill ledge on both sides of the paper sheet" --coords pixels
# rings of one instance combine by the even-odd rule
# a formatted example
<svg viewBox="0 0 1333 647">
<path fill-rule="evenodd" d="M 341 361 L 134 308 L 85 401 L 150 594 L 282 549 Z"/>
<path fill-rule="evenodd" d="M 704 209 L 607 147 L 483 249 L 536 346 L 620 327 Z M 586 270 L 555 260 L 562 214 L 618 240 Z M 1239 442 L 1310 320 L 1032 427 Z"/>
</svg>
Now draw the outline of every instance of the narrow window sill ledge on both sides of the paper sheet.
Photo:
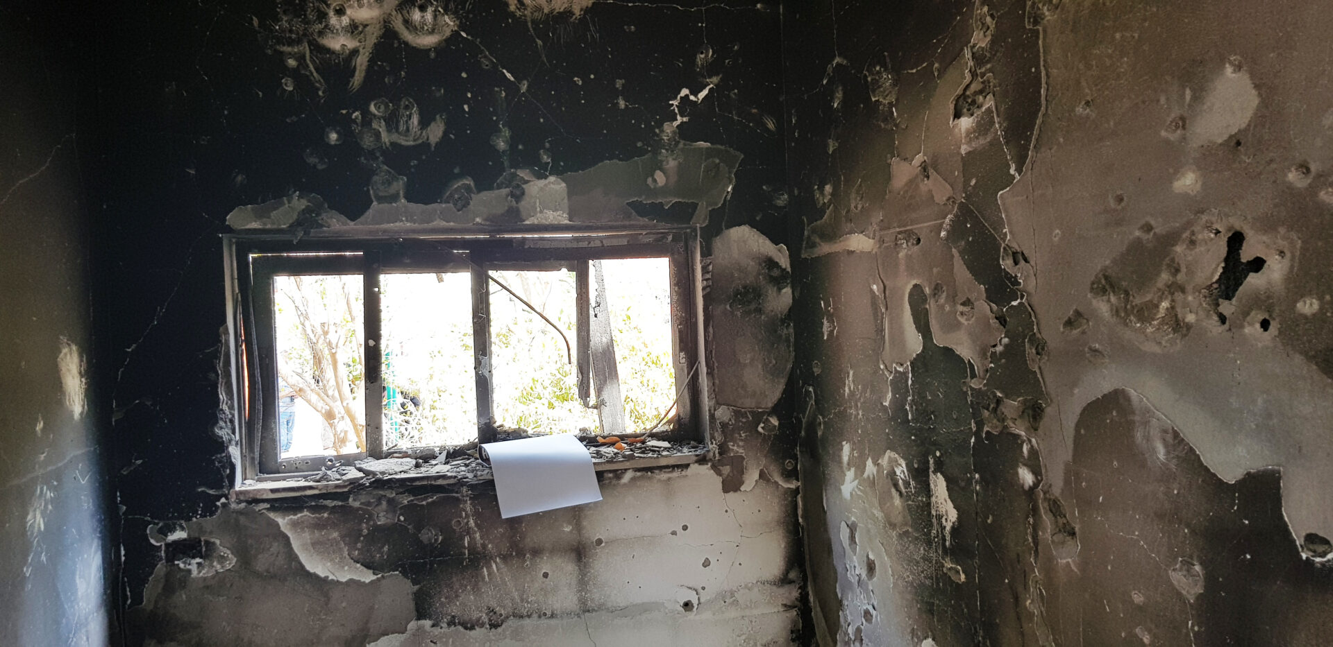
<svg viewBox="0 0 1333 647">
<path fill-rule="evenodd" d="M 664 467 L 672 465 L 690 465 L 704 462 L 709 457 L 708 447 L 698 443 L 677 443 L 669 450 L 656 455 L 635 453 L 628 450 L 623 458 L 599 458 L 595 453 L 593 469 L 596 471 L 636 470 L 648 467 Z M 232 490 L 232 501 L 263 501 L 281 499 L 289 497 L 311 497 L 331 493 L 344 493 L 349 490 L 371 487 L 409 487 L 419 485 L 452 485 L 452 483 L 480 483 L 492 481 L 491 466 L 485 462 L 465 457 L 448 461 L 429 461 L 420 467 L 412 467 L 396 474 L 371 475 L 355 466 L 339 467 L 336 473 L 327 473 L 327 481 L 312 481 L 321 474 L 292 475 L 281 481 L 248 481 Z"/>
</svg>

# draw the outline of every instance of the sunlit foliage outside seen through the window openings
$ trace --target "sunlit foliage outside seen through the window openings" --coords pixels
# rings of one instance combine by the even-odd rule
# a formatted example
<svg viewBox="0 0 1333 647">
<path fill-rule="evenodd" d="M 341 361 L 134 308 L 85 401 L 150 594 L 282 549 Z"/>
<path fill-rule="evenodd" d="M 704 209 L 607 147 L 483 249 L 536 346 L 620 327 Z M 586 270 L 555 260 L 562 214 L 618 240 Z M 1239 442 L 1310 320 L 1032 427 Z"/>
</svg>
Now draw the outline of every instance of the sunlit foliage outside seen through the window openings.
<svg viewBox="0 0 1333 647">
<path fill-rule="evenodd" d="M 617 268 L 616 264 L 636 261 L 604 261 L 629 430 L 653 425 L 676 397 L 665 260 L 653 261 L 660 264 L 637 261 L 637 265 Z M 645 274 L 645 270 L 651 272 Z M 493 274 L 555 321 L 571 345 L 576 343 L 572 272 Z M 312 278 L 299 282 L 300 289 L 289 285 L 287 298 L 276 300 L 279 325 L 287 330 L 287 334 L 280 330 L 279 335 L 283 362 L 293 373 L 292 381 L 304 379 L 327 391 L 299 393 L 313 409 L 321 410 L 323 401 L 336 395 L 337 381 L 320 374 L 320 362 L 328 363 L 321 358 L 331 357 L 320 343 L 335 345 L 340 377 L 351 390 L 348 397 L 359 402 L 364 370 L 360 362 L 360 293 L 344 290 L 336 277 Z M 457 445 L 476 438 L 469 290 L 468 273 L 383 277 L 387 449 Z M 343 292 L 347 292 L 345 298 Z M 303 298 L 309 308 L 293 308 Z M 491 302 L 496 422 L 536 434 L 599 431 L 596 409 L 585 407 L 579 399 L 579 371 L 569 363 L 560 334 L 493 284 Z M 325 324 L 331 330 L 327 337 L 301 333 L 317 331 Z M 325 419 L 331 429 L 357 423 L 355 418 Z"/>
</svg>

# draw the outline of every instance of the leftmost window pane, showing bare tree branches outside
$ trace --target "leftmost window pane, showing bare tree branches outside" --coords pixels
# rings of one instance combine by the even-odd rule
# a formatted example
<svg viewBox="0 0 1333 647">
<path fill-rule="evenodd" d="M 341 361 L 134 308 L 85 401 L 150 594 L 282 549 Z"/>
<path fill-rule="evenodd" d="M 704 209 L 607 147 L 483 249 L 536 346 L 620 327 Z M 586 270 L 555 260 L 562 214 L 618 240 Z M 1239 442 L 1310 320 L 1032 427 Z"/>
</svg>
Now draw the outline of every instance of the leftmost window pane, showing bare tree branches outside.
<svg viewBox="0 0 1333 647">
<path fill-rule="evenodd" d="M 279 455 L 365 450 L 360 276 L 273 277 Z"/>
</svg>

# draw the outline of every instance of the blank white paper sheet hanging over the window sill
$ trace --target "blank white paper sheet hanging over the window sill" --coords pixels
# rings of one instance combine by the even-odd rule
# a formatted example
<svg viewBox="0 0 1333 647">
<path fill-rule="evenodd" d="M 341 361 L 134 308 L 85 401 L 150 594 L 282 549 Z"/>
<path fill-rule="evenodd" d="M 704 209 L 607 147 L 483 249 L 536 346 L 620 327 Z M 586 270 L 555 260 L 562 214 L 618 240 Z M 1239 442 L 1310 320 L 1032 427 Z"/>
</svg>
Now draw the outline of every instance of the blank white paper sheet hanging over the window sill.
<svg viewBox="0 0 1333 647">
<path fill-rule="evenodd" d="M 500 517 L 601 501 L 588 449 L 569 434 L 483 445 L 496 478 Z"/>
</svg>

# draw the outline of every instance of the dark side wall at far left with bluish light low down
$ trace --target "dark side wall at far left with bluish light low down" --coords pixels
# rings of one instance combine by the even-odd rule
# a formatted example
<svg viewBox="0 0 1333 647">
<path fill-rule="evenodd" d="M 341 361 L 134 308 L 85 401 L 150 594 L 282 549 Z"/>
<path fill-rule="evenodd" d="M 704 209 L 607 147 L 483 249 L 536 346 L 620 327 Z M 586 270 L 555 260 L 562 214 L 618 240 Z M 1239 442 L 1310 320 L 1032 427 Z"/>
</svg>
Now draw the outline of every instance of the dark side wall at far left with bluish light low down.
<svg viewBox="0 0 1333 647">
<path fill-rule="evenodd" d="M 0 644 L 95 646 L 112 580 L 107 453 L 89 386 L 77 56 L 59 40 L 81 23 L 51 9 L 0 9 Z"/>
</svg>

